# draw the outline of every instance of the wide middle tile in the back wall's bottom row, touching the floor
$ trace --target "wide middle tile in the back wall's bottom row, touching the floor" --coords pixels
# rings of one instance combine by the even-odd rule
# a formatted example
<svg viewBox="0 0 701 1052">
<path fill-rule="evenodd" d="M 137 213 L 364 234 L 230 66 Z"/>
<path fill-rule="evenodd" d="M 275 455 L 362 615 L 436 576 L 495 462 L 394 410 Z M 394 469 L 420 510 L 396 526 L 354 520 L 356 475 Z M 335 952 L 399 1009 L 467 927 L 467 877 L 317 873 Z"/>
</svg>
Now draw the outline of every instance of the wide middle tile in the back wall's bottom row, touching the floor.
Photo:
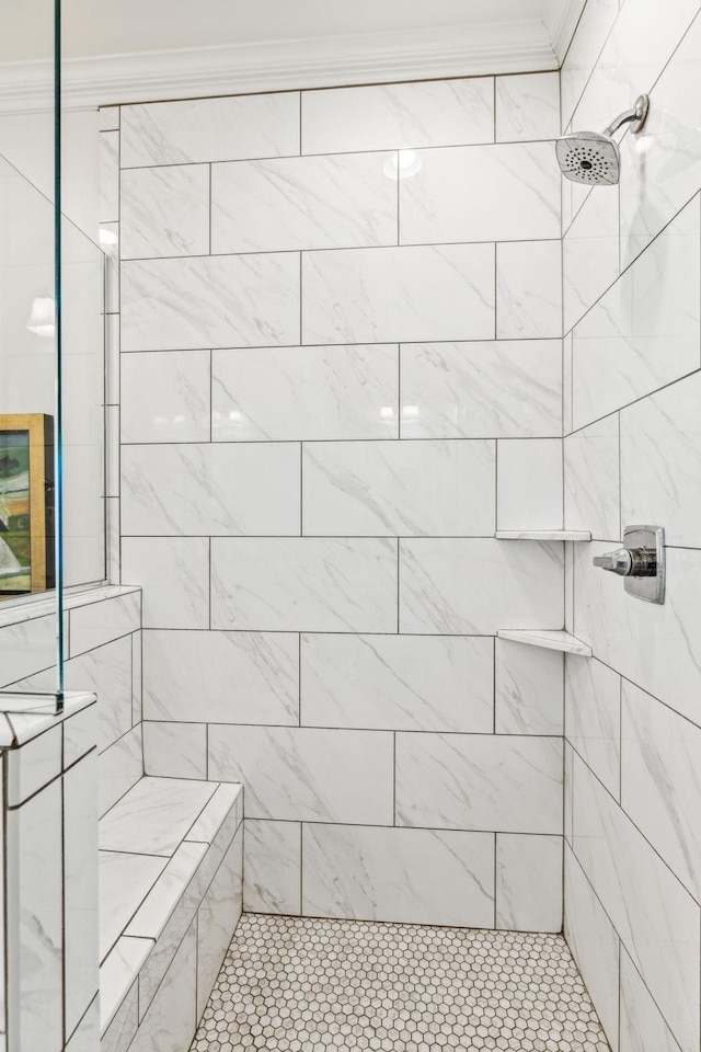
<svg viewBox="0 0 701 1052">
<path fill-rule="evenodd" d="M 494 836 L 304 825 L 302 915 L 491 928 Z"/>
</svg>

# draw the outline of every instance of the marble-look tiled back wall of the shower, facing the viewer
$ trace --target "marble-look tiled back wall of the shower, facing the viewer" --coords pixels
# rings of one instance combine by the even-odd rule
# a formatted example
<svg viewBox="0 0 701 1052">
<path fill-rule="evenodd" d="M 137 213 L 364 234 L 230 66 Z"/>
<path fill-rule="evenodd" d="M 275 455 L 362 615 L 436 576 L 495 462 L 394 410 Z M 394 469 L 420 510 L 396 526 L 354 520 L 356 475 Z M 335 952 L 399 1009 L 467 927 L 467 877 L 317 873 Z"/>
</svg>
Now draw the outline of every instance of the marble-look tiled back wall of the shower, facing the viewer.
<svg viewBox="0 0 701 1052">
<path fill-rule="evenodd" d="M 147 773 L 244 784 L 248 908 L 558 930 L 558 73 L 103 126 Z"/>
</svg>

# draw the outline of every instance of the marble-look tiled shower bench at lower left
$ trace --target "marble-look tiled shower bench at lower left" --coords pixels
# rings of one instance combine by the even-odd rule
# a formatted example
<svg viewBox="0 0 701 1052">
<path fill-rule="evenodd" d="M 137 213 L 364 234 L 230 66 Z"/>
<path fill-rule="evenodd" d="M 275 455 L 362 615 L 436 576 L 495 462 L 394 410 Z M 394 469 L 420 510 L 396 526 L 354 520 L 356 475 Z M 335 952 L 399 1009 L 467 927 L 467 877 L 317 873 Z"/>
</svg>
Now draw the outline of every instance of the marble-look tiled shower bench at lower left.
<svg viewBox="0 0 701 1052">
<path fill-rule="evenodd" d="M 241 915 L 243 790 L 141 778 L 100 822 L 102 1052 L 186 1052 Z"/>
</svg>

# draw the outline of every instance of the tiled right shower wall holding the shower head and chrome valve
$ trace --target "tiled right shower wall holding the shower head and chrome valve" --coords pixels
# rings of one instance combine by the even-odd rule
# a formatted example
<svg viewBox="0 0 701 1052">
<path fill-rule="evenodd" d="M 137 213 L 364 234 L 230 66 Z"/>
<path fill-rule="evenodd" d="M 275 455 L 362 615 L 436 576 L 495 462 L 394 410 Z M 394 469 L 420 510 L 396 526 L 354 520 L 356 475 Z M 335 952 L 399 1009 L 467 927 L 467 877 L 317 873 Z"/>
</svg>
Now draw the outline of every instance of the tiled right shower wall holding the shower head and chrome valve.
<svg viewBox="0 0 701 1052">
<path fill-rule="evenodd" d="M 565 933 L 614 1050 L 697 1052 L 701 923 L 701 351 L 698 0 L 589 0 L 563 127 L 651 93 L 618 188 L 567 184 Z M 591 565 L 664 526 L 664 606 Z"/>
</svg>

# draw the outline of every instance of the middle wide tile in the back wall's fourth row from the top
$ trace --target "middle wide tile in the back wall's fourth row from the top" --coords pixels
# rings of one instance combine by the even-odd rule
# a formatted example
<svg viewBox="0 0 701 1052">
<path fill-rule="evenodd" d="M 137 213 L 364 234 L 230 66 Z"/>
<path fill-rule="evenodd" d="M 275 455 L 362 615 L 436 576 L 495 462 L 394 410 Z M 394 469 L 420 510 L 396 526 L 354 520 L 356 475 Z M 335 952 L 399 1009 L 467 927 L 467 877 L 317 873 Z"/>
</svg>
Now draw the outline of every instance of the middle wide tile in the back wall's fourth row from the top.
<svg viewBox="0 0 701 1052">
<path fill-rule="evenodd" d="M 211 369 L 215 441 L 399 437 L 395 346 L 215 351 Z"/>
</svg>

